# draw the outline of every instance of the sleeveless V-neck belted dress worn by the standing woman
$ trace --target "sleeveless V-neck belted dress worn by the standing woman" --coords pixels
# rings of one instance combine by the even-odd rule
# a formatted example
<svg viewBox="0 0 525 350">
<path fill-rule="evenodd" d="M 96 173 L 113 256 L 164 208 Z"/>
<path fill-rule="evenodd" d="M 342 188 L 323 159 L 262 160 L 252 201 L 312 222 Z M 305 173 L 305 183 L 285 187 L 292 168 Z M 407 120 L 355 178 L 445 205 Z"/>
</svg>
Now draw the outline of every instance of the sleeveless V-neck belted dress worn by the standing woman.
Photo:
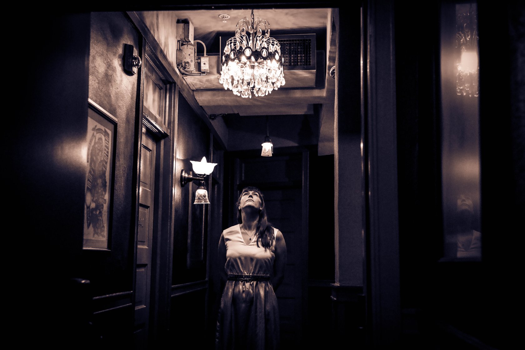
<svg viewBox="0 0 525 350">
<path fill-rule="evenodd" d="M 274 236 L 276 234 L 274 228 Z M 256 238 L 246 245 L 240 225 L 224 230 L 223 236 L 226 273 L 230 278 L 234 275 L 247 278 L 226 281 L 217 319 L 216 349 L 277 349 L 279 311 L 269 281 L 274 270 L 275 239 L 270 249 L 260 244 L 257 247 Z"/>
</svg>

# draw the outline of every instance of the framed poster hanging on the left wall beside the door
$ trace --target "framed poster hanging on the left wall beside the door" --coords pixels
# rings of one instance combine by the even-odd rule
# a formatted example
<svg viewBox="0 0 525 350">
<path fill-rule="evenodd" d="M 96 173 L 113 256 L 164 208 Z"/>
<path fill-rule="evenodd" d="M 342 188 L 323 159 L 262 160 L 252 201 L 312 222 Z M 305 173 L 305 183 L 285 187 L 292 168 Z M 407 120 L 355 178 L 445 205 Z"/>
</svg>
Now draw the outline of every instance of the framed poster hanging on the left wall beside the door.
<svg viewBox="0 0 525 350">
<path fill-rule="evenodd" d="M 117 119 L 88 100 L 83 249 L 109 250 Z"/>
</svg>

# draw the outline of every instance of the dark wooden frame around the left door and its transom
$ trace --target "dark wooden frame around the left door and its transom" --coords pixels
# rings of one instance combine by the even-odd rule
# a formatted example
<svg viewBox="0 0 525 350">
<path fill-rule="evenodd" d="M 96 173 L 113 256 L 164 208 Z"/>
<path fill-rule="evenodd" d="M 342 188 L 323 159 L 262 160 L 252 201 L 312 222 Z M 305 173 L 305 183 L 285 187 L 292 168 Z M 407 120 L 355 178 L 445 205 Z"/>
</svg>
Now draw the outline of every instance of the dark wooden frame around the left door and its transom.
<svg viewBox="0 0 525 350">
<path fill-rule="evenodd" d="M 133 19 L 132 19 L 133 22 Z M 140 30 L 139 30 L 140 32 Z M 150 41 L 148 41 L 150 40 Z M 176 115 L 178 87 L 166 68 L 167 62 L 159 57 L 158 43 L 152 37 L 140 36 L 141 61 L 150 60 L 157 73 L 165 84 L 163 112 L 166 113 L 165 122 L 144 113 L 144 81 L 145 69 L 140 69 L 139 89 L 137 92 L 137 125 L 135 134 L 137 139 L 137 166 L 136 198 L 135 200 L 135 232 L 133 240 L 133 266 L 137 264 L 137 238 L 139 217 L 140 193 L 140 157 L 142 147 L 142 128 L 150 132 L 156 141 L 156 168 L 155 168 L 155 200 L 154 200 L 154 236 L 152 252 L 152 273 L 150 290 L 150 326 L 149 345 L 162 343 L 169 330 L 170 319 L 170 290 L 172 275 L 173 251 L 173 184 L 176 181 L 173 174 L 175 146 L 176 146 Z M 136 282 L 133 269 L 133 288 Z M 133 305 L 135 304 L 135 290 L 133 290 Z"/>
</svg>

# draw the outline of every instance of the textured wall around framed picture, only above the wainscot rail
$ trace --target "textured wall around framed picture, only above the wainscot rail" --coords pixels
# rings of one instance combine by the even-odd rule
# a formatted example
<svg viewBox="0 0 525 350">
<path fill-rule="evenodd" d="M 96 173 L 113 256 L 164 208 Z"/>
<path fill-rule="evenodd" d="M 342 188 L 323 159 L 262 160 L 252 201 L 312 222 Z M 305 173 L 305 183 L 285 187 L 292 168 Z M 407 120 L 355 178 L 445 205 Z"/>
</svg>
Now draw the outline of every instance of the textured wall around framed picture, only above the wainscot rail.
<svg viewBox="0 0 525 350">
<path fill-rule="evenodd" d="M 120 65 L 124 44 L 138 46 L 138 34 L 123 13 L 91 14 L 89 98 L 117 118 L 110 251 L 83 251 L 83 269 L 93 296 L 133 289 L 133 195 L 136 186 L 135 101 L 138 76 Z M 97 310 L 98 311 L 98 310 Z"/>
</svg>

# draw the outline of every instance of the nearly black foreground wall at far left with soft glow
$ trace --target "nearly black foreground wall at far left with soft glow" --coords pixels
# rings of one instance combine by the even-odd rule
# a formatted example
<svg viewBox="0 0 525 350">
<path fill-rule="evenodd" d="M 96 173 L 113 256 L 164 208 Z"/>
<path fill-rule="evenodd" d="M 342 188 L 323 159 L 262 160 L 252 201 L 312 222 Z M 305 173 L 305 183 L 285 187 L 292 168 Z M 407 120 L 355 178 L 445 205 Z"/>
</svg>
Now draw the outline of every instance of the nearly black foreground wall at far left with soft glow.
<svg viewBox="0 0 525 350">
<path fill-rule="evenodd" d="M 6 133 L 4 153 L 5 169 L 12 171 L 5 191 L 13 210 L 9 250 L 18 251 L 10 254 L 14 269 L 6 276 L 8 293 L 14 297 L 9 304 L 16 310 L 7 308 L 14 311 L 9 317 L 12 335 L 28 347 L 50 341 L 61 346 L 79 334 L 85 336 L 82 301 L 89 300 L 77 299 L 83 291 L 73 280 L 84 278 L 78 264 L 85 201 L 81 151 L 87 130 L 89 15 L 38 12 L 25 19 L 41 24 L 43 17 L 54 42 L 47 47 L 45 68 L 35 64 L 33 55 L 21 55 L 18 61 L 21 76 L 15 79 L 15 90 L 22 103 L 16 123 L 23 125 Z M 15 50 L 25 51 L 25 43 L 14 40 Z"/>
</svg>

